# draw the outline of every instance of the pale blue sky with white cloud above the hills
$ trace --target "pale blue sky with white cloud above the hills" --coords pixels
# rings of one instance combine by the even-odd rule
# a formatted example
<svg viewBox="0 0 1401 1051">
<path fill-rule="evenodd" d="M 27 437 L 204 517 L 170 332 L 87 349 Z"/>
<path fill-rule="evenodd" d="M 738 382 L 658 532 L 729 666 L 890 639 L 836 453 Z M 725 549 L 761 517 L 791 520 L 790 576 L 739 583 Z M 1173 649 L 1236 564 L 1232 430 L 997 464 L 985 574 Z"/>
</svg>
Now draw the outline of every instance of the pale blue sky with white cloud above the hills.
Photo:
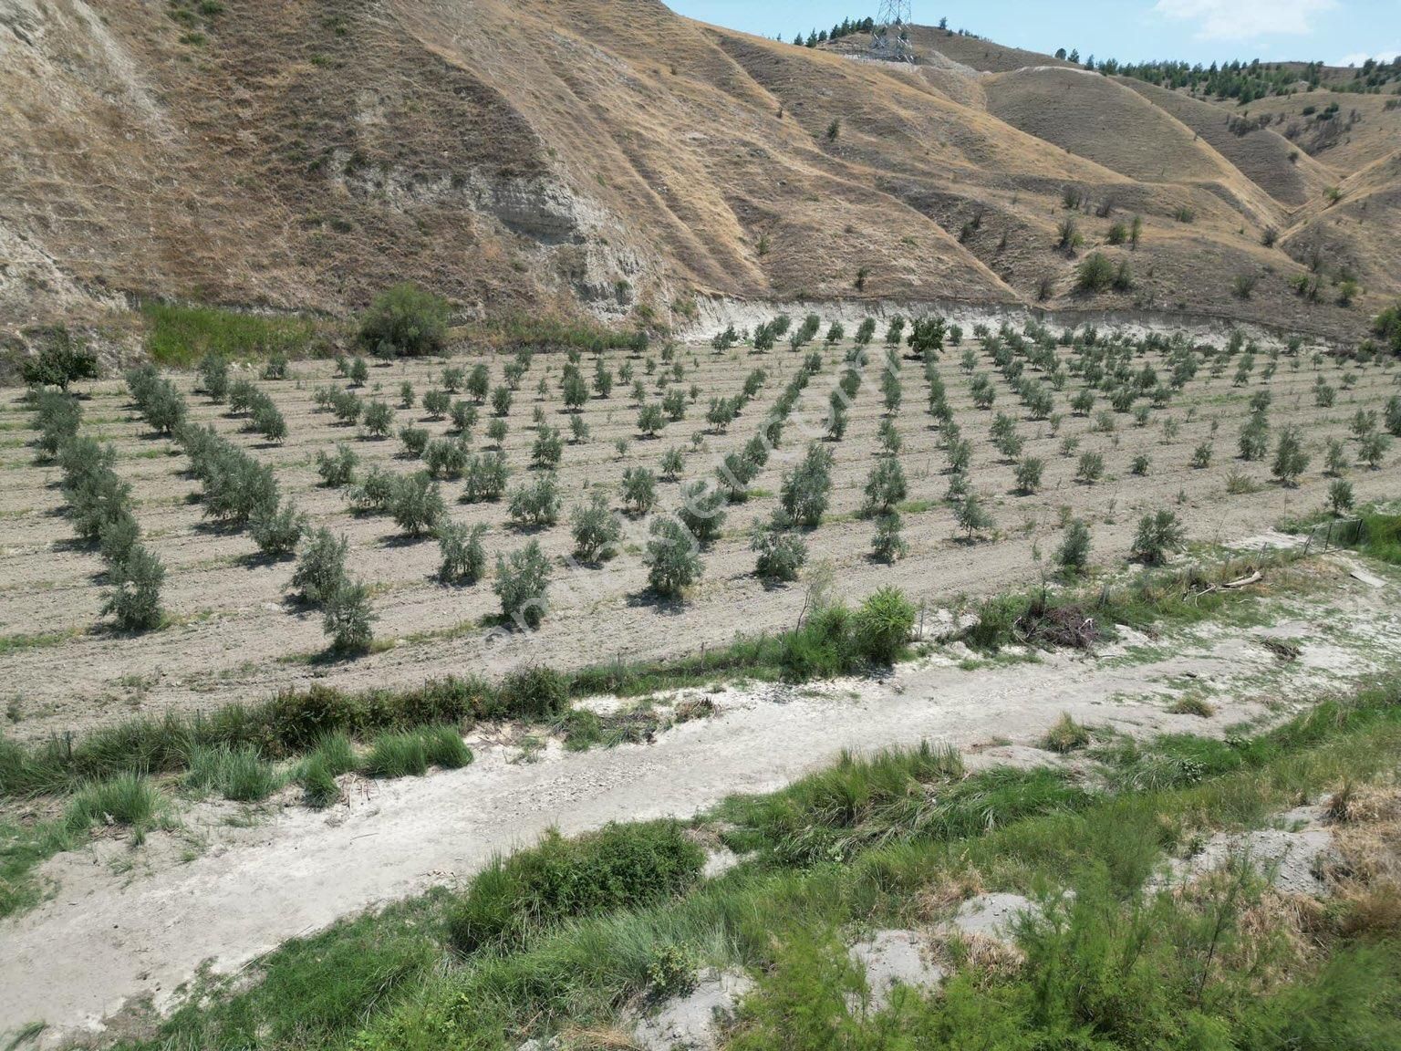
<svg viewBox="0 0 1401 1051">
<path fill-rule="evenodd" d="M 672 10 L 762 36 L 874 17 L 880 0 L 665 0 Z M 1401 53 L 1401 0 L 912 0 L 913 21 L 948 18 L 998 43 L 1145 62 L 1297 59 L 1390 62 Z"/>
</svg>

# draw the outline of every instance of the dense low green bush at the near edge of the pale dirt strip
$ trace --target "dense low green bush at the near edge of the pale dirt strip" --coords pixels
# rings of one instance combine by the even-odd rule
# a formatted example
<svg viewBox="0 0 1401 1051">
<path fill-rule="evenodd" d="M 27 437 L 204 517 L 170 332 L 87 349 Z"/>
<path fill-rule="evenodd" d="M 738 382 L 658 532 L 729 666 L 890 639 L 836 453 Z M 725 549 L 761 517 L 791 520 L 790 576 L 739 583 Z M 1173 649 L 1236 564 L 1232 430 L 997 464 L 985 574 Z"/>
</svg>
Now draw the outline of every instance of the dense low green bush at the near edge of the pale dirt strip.
<svg viewBox="0 0 1401 1051">
<path fill-rule="evenodd" d="M 551 831 L 479 873 L 450 914 L 448 932 L 462 953 L 516 949 L 553 923 L 675 897 L 703 865 L 705 851 L 674 821 L 609 824 L 576 839 Z"/>
</svg>

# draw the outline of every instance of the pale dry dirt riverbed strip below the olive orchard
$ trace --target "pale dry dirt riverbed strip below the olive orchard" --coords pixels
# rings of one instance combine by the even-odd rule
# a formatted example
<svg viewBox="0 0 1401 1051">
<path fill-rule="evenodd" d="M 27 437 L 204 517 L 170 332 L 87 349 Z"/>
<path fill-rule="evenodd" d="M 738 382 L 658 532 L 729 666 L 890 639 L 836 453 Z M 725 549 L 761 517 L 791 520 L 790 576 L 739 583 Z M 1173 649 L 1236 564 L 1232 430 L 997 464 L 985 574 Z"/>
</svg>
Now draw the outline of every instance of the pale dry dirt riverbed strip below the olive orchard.
<svg viewBox="0 0 1401 1051">
<path fill-rule="evenodd" d="M 551 825 L 693 814 L 727 793 L 776 789 L 841 748 L 947 740 L 972 767 L 1063 762 L 1040 748 L 1062 712 L 1101 737 L 1223 734 L 1281 719 L 1401 663 L 1401 576 L 1359 580 L 1346 556 L 1307 565 L 1302 591 L 1267 598 L 1236 626 L 1129 636 L 1093 657 L 969 666 L 955 646 L 880 681 L 737 684 L 710 694 L 715 717 L 651 744 L 551 744 L 523 761 L 514 744 L 469 737 L 471 767 L 352 779 L 332 811 L 307 811 L 289 793 L 252 810 L 195 806 L 184 830 L 153 832 L 140 848 L 98 838 L 52 859 L 53 897 L 0 925 L 0 1031 L 38 1019 L 91 1030 L 132 998 L 170 1006 L 205 963 L 240 968 L 338 916 L 468 876 Z M 1281 661 L 1262 645 L 1269 638 L 1297 643 L 1297 660 Z M 1215 713 L 1171 713 L 1184 695 Z"/>
</svg>

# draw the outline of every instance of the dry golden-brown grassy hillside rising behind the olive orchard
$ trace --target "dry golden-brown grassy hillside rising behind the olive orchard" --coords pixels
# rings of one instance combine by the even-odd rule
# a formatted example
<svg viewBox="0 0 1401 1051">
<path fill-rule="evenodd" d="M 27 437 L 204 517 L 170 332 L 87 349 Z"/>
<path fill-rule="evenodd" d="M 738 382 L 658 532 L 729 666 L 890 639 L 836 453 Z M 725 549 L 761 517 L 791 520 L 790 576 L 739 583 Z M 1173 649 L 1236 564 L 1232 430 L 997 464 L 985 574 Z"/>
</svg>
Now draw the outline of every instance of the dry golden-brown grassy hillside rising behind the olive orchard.
<svg viewBox="0 0 1401 1051">
<path fill-rule="evenodd" d="M 1275 130 L 1223 132 L 1223 108 L 926 28 L 911 69 L 656 0 L 200 11 L 0 4 L 0 336 L 136 296 L 339 314 L 412 279 L 462 317 L 864 297 L 1356 338 L 1401 291 L 1394 165 L 1362 172 L 1397 118 L 1381 99 L 1359 99 L 1365 144 L 1314 163 Z M 1349 179 L 1351 210 L 1314 212 Z M 1089 202 L 1079 252 L 1056 248 L 1068 185 Z M 1135 214 L 1140 245 L 1105 247 L 1133 287 L 1076 294 L 1079 259 Z M 1283 247 L 1323 227 L 1365 277 L 1351 308 L 1289 290 Z M 1238 273 L 1259 276 L 1248 300 Z"/>
</svg>

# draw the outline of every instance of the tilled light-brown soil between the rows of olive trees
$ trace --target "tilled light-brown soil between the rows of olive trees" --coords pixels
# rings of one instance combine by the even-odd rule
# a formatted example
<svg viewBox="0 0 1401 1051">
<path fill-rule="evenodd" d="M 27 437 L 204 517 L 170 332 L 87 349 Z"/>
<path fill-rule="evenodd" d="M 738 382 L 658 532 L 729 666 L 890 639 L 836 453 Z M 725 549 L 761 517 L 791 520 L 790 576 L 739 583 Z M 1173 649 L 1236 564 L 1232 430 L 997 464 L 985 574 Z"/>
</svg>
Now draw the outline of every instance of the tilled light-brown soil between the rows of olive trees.
<svg viewBox="0 0 1401 1051">
<path fill-rule="evenodd" d="M 965 336 L 965 346 L 971 336 Z M 878 341 L 877 341 L 878 342 Z M 1063 349 L 1062 349 L 1062 353 Z M 555 667 L 577 667 L 614 659 L 637 660 L 679 656 L 703 646 L 731 642 L 738 633 L 758 633 L 790 626 L 804 604 L 801 583 L 765 587 L 754 576 L 750 551 L 751 523 L 766 518 L 778 504 L 782 475 L 801 455 L 806 436 L 821 433 L 828 394 L 842 370 L 843 349 L 824 350 L 822 371 L 807 387 L 785 432 L 782 447 L 754 481 L 747 503 L 729 509 L 724 535 L 705 552 L 700 582 L 679 604 L 658 604 L 646 590 L 642 545 L 646 521 L 629 520 L 621 554 L 602 568 L 567 566 L 572 548 L 569 509 L 588 492 L 601 489 L 612 506 L 621 507 L 616 486 L 626 467 L 657 468 L 663 450 L 681 446 L 686 455 L 684 478 L 715 478 L 720 458 L 738 450 L 758 432 L 759 422 L 799 367 L 801 355 L 786 346 L 769 353 L 743 348 L 716 353 L 709 346 L 682 348 L 678 362 L 685 369 L 679 385 L 693 383 L 700 398 L 688 408 L 684 422 L 672 423 L 658 439 L 637 437 L 637 408 L 628 385 L 618 384 L 608 399 L 593 398 L 586 409 L 591 437 L 565 448 L 559 481 L 563 495 L 560 523 L 534 534 L 510 528 L 506 504 L 464 504 L 462 486 L 446 482 L 444 496 L 454 520 L 486 523 L 489 559 L 497 552 L 521 547 L 530 537 L 539 540 L 556 561 L 549 590 L 551 614 L 541 631 L 502 636 L 483 628 L 483 618 L 500 611 L 490 579 L 472 587 L 448 587 L 436 579 L 437 544 L 432 540 L 405 542 L 392 520 L 357 516 L 342 490 L 319 485 L 314 457 L 332 450 L 336 441 L 352 446 L 361 469 L 382 464 L 410 471 L 413 461 L 402 458 L 398 439 L 366 440 L 357 429 L 338 426 L 318 412 L 312 390 L 332 381 L 332 367 L 324 362 L 294 366 L 296 378 L 258 381 L 287 418 L 289 439 L 268 446 L 241 430 L 242 422 L 227 416 L 227 406 L 212 405 L 191 388 L 189 376 L 177 374 L 191 405 L 192 419 L 213 423 L 254 455 L 272 464 L 286 495 L 310 513 L 314 526 L 328 526 L 345 534 L 352 547 L 350 569 L 374 586 L 374 608 L 380 617 L 375 635 L 378 652 L 354 661 L 326 661 L 321 657 L 325 639 L 321 618 L 314 611 L 289 604 L 291 562 L 265 563 L 247 533 L 212 528 L 198 503 L 198 482 L 185 475 L 188 460 L 165 439 L 151 436 L 129 409 L 119 381 L 97 384 L 84 402 L 84 433 L 111 440 L 119 450 L 118 472 L 132 483 L 136 514 L 150 547 L 164 559 L 167 580 L 163 601 L 170 626 L 143 636 L 119 636 L 101 625 L 104 601 L 102 562 L 98 554 L 71 541 L 70 523 L 62 513 L 56 465 L 36 461 L 29 446 L 34 432 L 20 391 L 7 391 L 0 402 L 0 699 L 8 713 L 7 733 L 34 739 L 49 733 L 120 720 L 133 713 L 167 709 L 212 709 L 230 701 L 256 701 L 284 688 L 324 682 L 343 688 L 395 687 L 448 674 L 499 674 L 523 661 L 544 661 Z M 883 416 L 880 355 L 871 348 L 866 383 L 852 408 L 845 440 L 828 447 L 835 455 L 834 492 L 824 523 L 807 537 L 810 575 L 829 565 L 839 593 L 850 600 L 884 584 L 904 589 L 915 601 L 927 603 L 930 612 L 957 608 L 961 596 L 986 596 L 1037 579 L 1037 555 L 1049 559 L 1059 544 L 1063 514 L 1084 517 L 1093 530 L 1093 559 L 1115 565 L 1126 554 L 1140 514 L 1174 507 L 1182 516 L 1194 541 L 1229 541 L 1259 533 L 1292 513 L 1323 506 L 1328 478 L 1323 475 L 1324 439 L 1349 439 L 1355 411 L 1380 411 L 1397 390 L 1398 370 L 1380 364 L 1355 366 L 1332 359 L 1314 366 L 1307 350 L 1299 357 L 1282 357 L 1268 381 L 1259 355 L 1251 383 L 1233 387 L 1234 364 L 1213 378 L 1202 367 L 1173 405 L 1152 412 L 1146 426 L 1132 416 L 1114 413 L 1112 433 L 1094 433 L 1091 425 L 1103 397 L 1090 416 L 1073 415 L 1069 401 L 1079 390 L 1072 378 L 1055 395 L 1056 412 L 1063 413 L 1058 436 L 1045 422 L 1026 419 L 1024 409 L 991 360 L 979 356 L 978 370 L 992 376 L 998 388 L 993 411 L 978 411 L 968 394 L 969 377 L 958 364 L 960 352 L 946 355 L 940 371 L 948 387 L 955 422 L 975 446 L 971 479 L 988 497 L 996 517 L 995 537 L 967 544 L 948 506 L 946 457 L 939 433 L 930 427 L 925 406 L 927 383 L 920 363 L 905 362 L 904 409 L 898 430 L 904 439 L 901 464 L 909 479 L 906 540 L 909 558 L 884 565 L 869 558 L 873 526 L 860 518 L 862 489 L 876 462 L 876 432 Z M 1150 356 L 1152 359 L 1152 356 Z M 455 359 L 469 366 L 476 359 Z M 504 359 L 488 359 L 493 384 L 500 381 Z M 616 371 L 623 352 L 609 352 L 608 364 Z M 644 360 L 630 360 L 637 377 L 646 377 Z M 530 448 L 535 432 L 530 418 L 535 406 L 567 437 L 567 416 L 559 395 L 562 359 L 537 355 L 517 394 L 509 425 L 506 453 L 511 483 L 527 479 Z M 1297 367 L 1295 367 L 1297 366 Z M 706 433 L 705 408 L 710 397 L 738 391 L 751 369 L 764 367 L 769 378 L 750 408 L 726 434 Z M 664 366 L 658 362 L 658 374 Z M 591 363 L 583 362 L 586 377 Z M 399 383 L 409 380 L 419 395 L 433 385 L 441 363 L 401 363 L 370 370 L 364 397 L 398 402 Z M 1161 373 L 1160 366 L 1160 373 Z M 1316 374 L 1338 388 L 1331 409 L 1314 405 Z M 541 377 L 549 394 L 535 394 Z M 1355 380 L 1346 387 L 1345 377 Z M 345 385 L 346 381 L 338 381 Z M 656 384 L 647 378 L 649 399 Z M 382 388 L 382 390 L 380 390 Z M 1268 388 L 1274 398 L 1274 434 L 1286 423 L 1302 427 L 1311 462 L 1297 489 L 1269 481 L 1267 462 L 1233 460 L 1236 436 L 1247 416 L 1247 399 Z M 1026 453 L 1047 461 L 1044 488 L 1035 496 L 1014 493 L 1013 464 L 993 448 L 988 429 L 996 411 L 1019 416 L 1027 439 Z M 396 423 L 417 420 L 420 411 L 398 411 Z M 489 405 L 482 406 L 474 447 L 483 436 Z M 1180 427 L 1166 433 L 1171 418 Z M 434 436 L 448 430 L 447 420 L 425 422 Z M 1215 458 L 1206 469 L 1189 465 L 1194 448 L 1215 437 Z M 692 450 L 691 439 L 700 446 Z M 1062 454 L 1065 439 L 1079 448 Z M 615 440 L 628 439 L 619 455 Z M 1356 457 L 1356 443 L 1348 441 Z M 1105 476 L 1097 485 L 1075 481 L 1079 454 L 1101 451 Z M 1152 458 L 1146 478 L 1131 475 L 1129 464 L 1139 453 Z M 1248 475 L 1259 490 L 1229 496 L 1224 479 L 1233 471 Z M 1393 450 L 1381 469 L 1356 467 L 1349 471 L 1359 502 L 1394 496 L 1401 486 L 1401 455 Z M 679 502 L 679 483 L 660 483 L 658 510 Z M 1045 562 L 1042 562 L 1044 565 Z"/>
</svg>

